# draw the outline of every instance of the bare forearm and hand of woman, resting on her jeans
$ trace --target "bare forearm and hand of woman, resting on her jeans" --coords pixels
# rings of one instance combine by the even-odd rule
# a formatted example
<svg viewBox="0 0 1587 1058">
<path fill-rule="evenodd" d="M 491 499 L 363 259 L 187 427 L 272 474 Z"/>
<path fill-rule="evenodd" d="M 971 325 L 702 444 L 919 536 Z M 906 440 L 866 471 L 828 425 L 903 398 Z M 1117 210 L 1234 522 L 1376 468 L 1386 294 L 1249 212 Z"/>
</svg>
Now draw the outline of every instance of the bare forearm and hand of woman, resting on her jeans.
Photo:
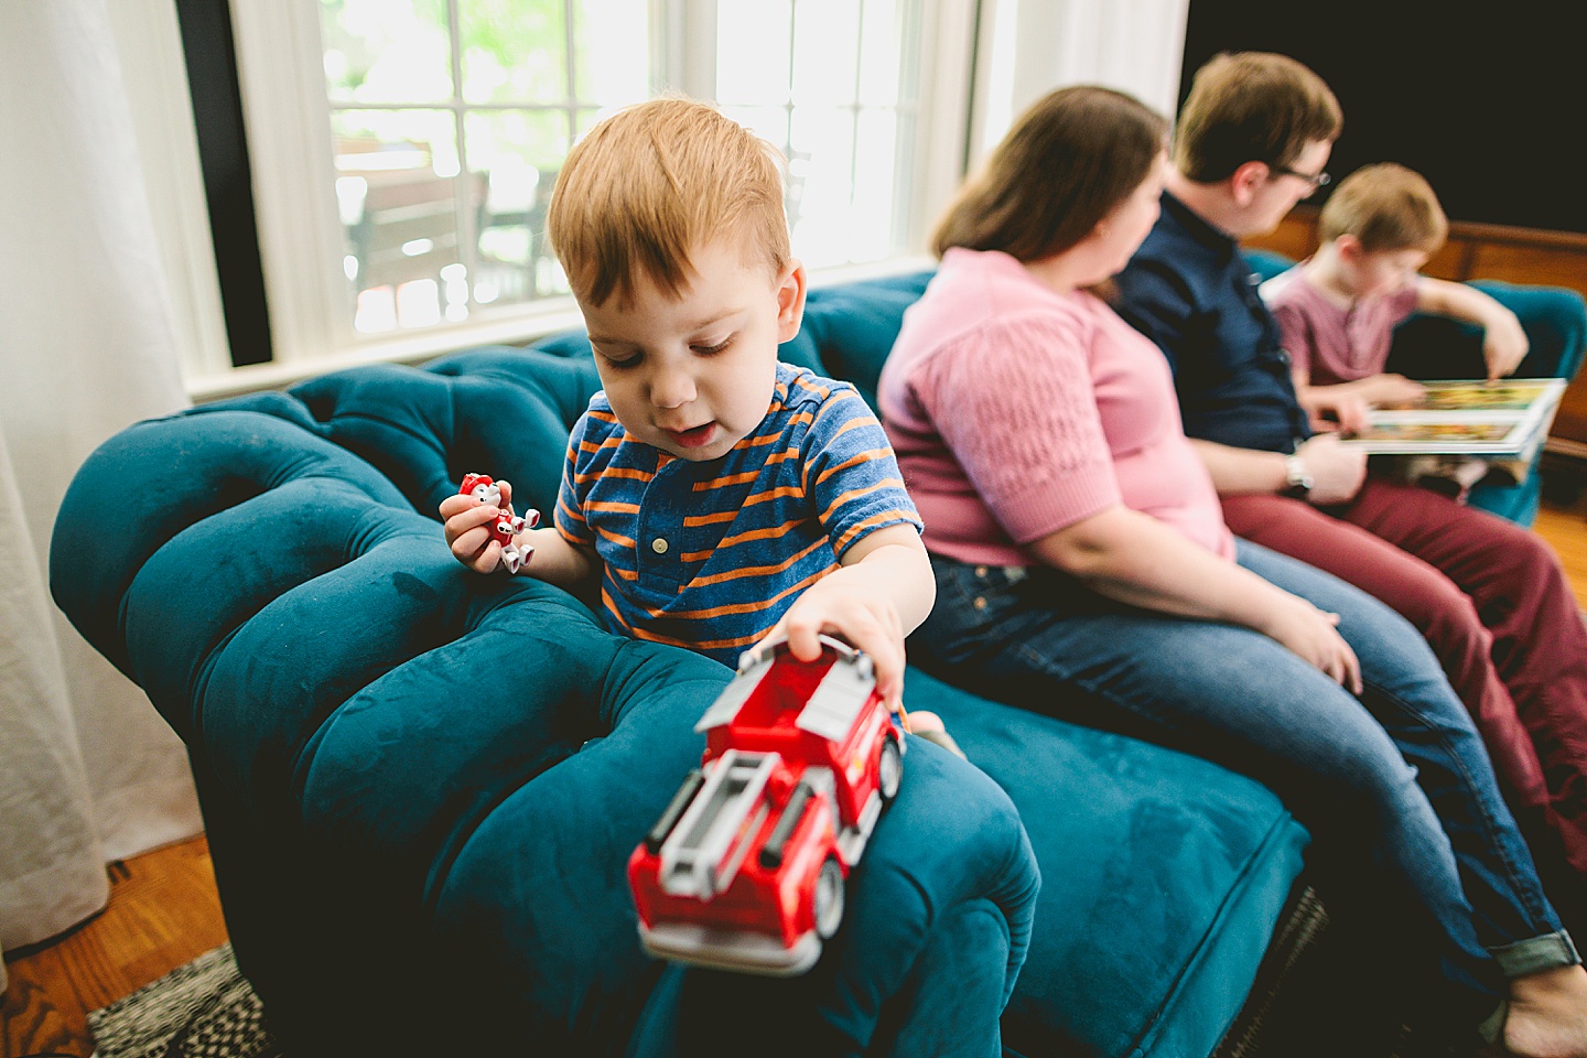
<svg viewBox="0 0 1587 1058">
<path fill-rule="evenodd" d="M 1241 625 L 1289 647 L 1354 693 L 1360 661 L 1338 615 L 1190 541 L 1157 519 L 1114 504 L 1028 549 L 1098 595 L 1130 606 Z"/>
</svg>

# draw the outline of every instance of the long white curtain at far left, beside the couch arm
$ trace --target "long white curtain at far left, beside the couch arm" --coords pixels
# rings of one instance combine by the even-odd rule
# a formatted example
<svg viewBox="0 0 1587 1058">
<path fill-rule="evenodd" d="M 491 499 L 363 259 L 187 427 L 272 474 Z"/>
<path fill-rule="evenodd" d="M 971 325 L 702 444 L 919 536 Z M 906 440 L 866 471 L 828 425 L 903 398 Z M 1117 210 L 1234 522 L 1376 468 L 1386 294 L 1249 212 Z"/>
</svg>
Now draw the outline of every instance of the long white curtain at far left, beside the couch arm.
<svg viewBox="0 0 1587 1058">
<path fill-rule="evenodd" d="M 108 860 L 202 830 L 181 742 L 46 590 L 56 509 L 84 457 L 122 427 L 187 403 L 146 184 L 149 144 L 138 141 L 108 3 L 148 6 L 0 3 L 5 949 L 103 907 Z M 116 533 L 114 509 L 105 514 L 75 541 L 73 562 L 94 562 L 94 533 Z"/>
</svg>

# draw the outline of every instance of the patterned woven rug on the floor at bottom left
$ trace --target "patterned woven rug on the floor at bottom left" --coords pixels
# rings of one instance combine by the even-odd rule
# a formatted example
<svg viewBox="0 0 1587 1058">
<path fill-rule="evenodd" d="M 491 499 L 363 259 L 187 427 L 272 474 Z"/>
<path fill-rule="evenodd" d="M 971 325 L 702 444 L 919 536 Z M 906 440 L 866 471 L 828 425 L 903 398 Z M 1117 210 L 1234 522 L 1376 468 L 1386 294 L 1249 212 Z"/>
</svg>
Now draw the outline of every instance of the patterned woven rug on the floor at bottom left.
<svg viewBox="0 0 1587 1058">
<path fill-rule="evenodd" d="M 281 1058 L 259 996 L 222 944 L 89 1014 L 95 1058 Z"/>
</svg>

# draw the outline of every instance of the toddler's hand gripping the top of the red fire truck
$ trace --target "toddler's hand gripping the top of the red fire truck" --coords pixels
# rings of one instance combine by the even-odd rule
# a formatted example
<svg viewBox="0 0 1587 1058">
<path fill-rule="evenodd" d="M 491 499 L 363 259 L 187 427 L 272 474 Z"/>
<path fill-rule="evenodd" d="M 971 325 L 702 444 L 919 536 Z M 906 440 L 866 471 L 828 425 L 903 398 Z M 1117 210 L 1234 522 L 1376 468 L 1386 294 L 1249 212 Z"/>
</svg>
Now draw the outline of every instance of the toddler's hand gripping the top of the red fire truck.
<svg viewBox="0 0 1587 1058">
<path fill-rule="evenodd" d="M 817 636 L 843 639 L 863 650 L 876 665 L 876 690 L 893 712 L 903 701 L 903 622 L 890 598 L 849 585 L 844 569 L 811 585 L 767 633 L 787 636 L 789 650 L 801 661 L 820 657 Z"/>
</svg>

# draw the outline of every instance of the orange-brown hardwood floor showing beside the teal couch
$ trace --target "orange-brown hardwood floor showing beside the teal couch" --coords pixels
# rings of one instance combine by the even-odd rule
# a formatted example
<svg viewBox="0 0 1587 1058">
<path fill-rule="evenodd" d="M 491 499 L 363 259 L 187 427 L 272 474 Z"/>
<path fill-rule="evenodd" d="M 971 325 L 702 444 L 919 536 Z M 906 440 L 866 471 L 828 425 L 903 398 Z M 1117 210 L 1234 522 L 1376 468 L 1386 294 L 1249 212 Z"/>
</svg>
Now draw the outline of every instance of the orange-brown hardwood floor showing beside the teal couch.
<svg viewBox="0 0 1587 1058">
<path fill-rule="evenodd" d="M 1538 535 L 1560 554 L 1587 606 L 1587 498 L 1546 503 Z M 87 1012 L 168 974 L 225 941 L 203 838 L 110 866 L 110 907 L 37 950 L 6 952 L 0 1058 L 89 1058 Z"/>
</svg>

